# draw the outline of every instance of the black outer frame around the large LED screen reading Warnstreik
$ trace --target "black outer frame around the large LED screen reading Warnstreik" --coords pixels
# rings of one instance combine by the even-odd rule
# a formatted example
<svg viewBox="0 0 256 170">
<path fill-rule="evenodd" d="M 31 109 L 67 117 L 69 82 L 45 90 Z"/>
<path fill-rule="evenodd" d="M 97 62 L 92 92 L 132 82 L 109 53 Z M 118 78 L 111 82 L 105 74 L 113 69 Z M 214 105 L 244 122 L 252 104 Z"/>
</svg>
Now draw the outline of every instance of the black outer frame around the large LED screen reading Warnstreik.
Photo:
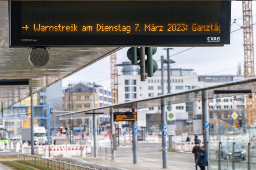
<svg viewBox="0 0 256 170">
<path fill-rule="evenodd" d="M 37 1 L 40 3 L 40 1 Z M 47 1 L 51 2 L 51 1 Z M 59 1 L 62 3 L 63 1 Z M 72 1 L 75 3 L 76 1 Z M 79 1 L 78 1 L 79 2 Z M 89 1 L 88 1 L 89 2 Z M 103 2 L 103 1 L 101 1 Z M 107 1 L 104 1 L 107 2 Z M 111 1 L 110 1 L 111 2 Z M 116 3 L 124 1 L 112 1 Z M 126 1 L 129 2 L 129 1 Z M 139 2 L 139 1 L 130 1 Z M 145 4 L 154 1 L 142 1 Z M 160 2 L 160 1 L 159 1 Z M 172 2 L 172 1 L 167 1 Z M 187 3 L 189 1 L 180 1 Z M 200 1 L 195 1 L 200 2 Z M 203 2 L 203 1 L 201 1 Z M 217 1 L 216 1 L 217 2 Z M 10 47 L 137 47 L 137 46 L 223 46 L 230 44 L 231 1 L 220 1 L 220 34 L 199 35 L 45 35 L 23 36 L 22 1 L 9 1 L 9 45 Z M 43 7 L 42 7 L 43 8 Z M 44 7 L 45 8 L 45 7 Z M 143 6 L 141 7 L 143 9 Z M 35 10 L 35 9 L 31 9 Z M 160 10 L 160 9 L 156 9 Z M 105 13 L 107 12 L 104 11 Z M 104 14 L 102 12 L 102 14 Z M 211 13 L 211 12 L 209 12 Z M 157 12 L 155 13 L 157 15 Z M 96 15 L 96 13 L 95 13 Z M 189 14 L 186 14 L 189 15 Z M 211 14 L 214 15 L 214 14 Z M 160 17 L 160 16 L 156 16 Z M 125 20 L 125 18 L 124 18 Z M 149 21 L 149 20 L 147 20 Z"/>
</svg>

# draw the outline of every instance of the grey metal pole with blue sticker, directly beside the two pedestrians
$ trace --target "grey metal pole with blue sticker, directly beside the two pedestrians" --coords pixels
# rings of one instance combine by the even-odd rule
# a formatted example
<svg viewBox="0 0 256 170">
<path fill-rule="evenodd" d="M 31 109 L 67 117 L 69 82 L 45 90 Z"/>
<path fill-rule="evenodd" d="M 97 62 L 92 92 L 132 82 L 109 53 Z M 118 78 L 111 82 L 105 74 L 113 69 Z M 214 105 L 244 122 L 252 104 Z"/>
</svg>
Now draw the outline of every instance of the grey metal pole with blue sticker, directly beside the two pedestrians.
<svg viewBox="0 0 256 170">
<path fill-rule="evenodd" d="M 208 90 L 202 91 L 202 112 L 203 112 L 203 136 L 206 145 L 207 157 L 209 158 L 209 114 L 208 114 Z M 210 161 L 208 160 L 208 167 Z"/>
</svg>

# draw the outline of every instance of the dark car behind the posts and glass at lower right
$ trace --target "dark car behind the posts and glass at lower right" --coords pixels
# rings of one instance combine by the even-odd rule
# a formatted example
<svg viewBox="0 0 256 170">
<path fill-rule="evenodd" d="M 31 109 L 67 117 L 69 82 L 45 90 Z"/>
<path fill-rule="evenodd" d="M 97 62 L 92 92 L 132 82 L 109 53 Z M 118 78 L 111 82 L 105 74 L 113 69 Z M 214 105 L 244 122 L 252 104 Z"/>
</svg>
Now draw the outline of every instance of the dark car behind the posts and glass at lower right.
<svg viewBox="0 0 256 170">
<path fill-rule="evenodd" d="M 246 150 L 237 142 L 234 145 L 235 160 L 246 160 Z M 223 159 L 232 159 L 233 141 L 224 141 L 220 145 L 220 155 Z M 219 158 L 219 149 L 216 150 L 216 158 Z"/>
</svg>

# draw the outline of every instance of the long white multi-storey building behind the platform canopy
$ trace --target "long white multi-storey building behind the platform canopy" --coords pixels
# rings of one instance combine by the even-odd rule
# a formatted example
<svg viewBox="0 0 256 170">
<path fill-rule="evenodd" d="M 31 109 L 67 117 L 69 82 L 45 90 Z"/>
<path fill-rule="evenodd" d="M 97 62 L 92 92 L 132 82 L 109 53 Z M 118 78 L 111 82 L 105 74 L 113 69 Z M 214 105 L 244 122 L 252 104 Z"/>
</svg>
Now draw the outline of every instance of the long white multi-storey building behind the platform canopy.
<svg viewBox="0 0 256 170">
<path fill-rule="evenodd" d="M 135 68 L 137 74 L 129 75 L 126 70 L 131 70 L 130 65 L 124 65 L 122 68 L 121 76 L 118 76 L 118 103 L 128 102 L 137 99 L 144 99 L 149 97 L 155 97 L 162 94 L 162 84 L 161 84 L 161 69 L 158 69 L 154 76 L 147 77 L 145 82 L 140 80 L 139 66 Z M 134 65 L 131 65 L 133 68 Z M 244 76 L 233 76 L 233 75 L 197 75 L 193 69 L 181 69 L 181 68 L 171 68 L 170 69 L 170 91 L 171 93 L 182 92 L 185 90 L 190 90 L 193 88 L 205 87 L 216 85 L 224 82 L 230 82 L 235 80 L 244 79 Z M 167 69 L 164 68 L 164 94 L 167 94 Z M 245 108 L 246 102 L 241 96 L 237 96 L 239 100 L 233 101 L 233 97 L 218 98 L 209 100 L 209 111 L 212 113 L 214 105 L 219 102 L 215 108 L 215 117 L 222 119 L 230 119 L 229 114 L 218 114 L 224 110 L 230 112 L 233 109 L 243 110 Z M 153 118 L 155 114 L 161 112 L 160 105 L 155 108 L 145 108 L 138 111 L 138 126 L 150 126 L 149 120 Z M 176 127 L 177 129 L 184 127 L 187 123 L 185 120 L 192 120 L 193 114 L 202 114 L 202 103 L 201 101 L 180 103 L 171 105 L 171 112 L 180 113 L 179 119 L 176 117 Z M 184 114 L 187 113 L 187 114 Z M 183 116 L 181 116 L 183 115 Z M 210 114 L 210 118 L 211 118 Z"/>
</svg>

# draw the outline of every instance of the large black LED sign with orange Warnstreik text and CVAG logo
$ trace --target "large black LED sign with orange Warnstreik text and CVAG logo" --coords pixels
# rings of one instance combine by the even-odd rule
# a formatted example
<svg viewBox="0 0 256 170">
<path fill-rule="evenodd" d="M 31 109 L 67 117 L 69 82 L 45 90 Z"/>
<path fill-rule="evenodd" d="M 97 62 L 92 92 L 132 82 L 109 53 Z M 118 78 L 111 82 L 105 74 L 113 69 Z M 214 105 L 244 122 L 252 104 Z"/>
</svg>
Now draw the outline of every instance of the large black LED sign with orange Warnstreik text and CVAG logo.
<svg viewBox="0 0 256 170">
<path fill-rule="evenodd" d="M 231 1 L 9 1 L 10 47 L 221 46 Z"/>
</svg>

